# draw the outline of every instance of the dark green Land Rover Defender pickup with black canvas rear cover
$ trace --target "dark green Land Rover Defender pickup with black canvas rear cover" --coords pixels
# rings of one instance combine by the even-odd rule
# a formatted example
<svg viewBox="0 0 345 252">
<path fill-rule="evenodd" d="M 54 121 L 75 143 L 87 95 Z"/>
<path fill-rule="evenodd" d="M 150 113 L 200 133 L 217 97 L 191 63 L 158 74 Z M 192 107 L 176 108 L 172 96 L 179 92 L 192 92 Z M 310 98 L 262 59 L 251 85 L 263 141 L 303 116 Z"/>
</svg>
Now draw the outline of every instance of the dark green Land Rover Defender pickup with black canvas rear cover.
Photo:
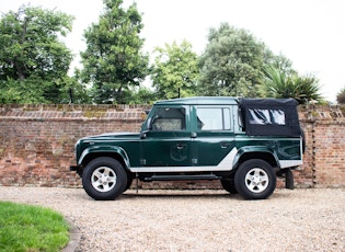
<svg viewBox="0 0 345 252">
<path fill-rule="evenodd" d="M 220 180 L 229 193 L 263 199 L 276 176 L 294 187 L 303 142 L 292 99 L 174 99 L 156 102 L 140 133 L 79 139 L 70 170 L 94 199 L 116 198 L 134 179 Z"/>
</svg>

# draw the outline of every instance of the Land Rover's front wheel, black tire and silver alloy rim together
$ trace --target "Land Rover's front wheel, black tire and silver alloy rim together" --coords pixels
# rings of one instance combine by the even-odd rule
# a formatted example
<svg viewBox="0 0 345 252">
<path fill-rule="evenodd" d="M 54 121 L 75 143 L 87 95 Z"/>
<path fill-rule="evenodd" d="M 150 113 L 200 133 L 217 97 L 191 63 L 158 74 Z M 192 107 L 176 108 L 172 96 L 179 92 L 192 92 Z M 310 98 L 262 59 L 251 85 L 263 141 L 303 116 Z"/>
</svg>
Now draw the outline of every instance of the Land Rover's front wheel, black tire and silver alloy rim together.
<svg viewBox="0 0 345 252">
<path fill-rule="evenodd" d="M 101 157 L 92 160 L 82 174 L 82 185 L 96 201 L 112 201 L 127 186 L 127 173 L 115 159 Z"/>
</svg>

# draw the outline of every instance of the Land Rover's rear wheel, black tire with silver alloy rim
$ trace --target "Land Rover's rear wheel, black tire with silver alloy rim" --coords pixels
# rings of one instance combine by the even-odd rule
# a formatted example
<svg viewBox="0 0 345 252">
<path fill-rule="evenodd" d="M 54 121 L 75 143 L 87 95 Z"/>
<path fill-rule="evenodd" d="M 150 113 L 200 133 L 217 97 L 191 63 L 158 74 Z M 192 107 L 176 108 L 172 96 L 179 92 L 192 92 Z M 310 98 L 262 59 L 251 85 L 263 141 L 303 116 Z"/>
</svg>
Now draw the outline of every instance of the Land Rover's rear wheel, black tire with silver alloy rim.
<svg viewBox="0 0 345 252">
<path fill-rule="evenodd" d="M 265 199 L 276 188 L 276 174 L 266 161 L 248 160 L 234 174 L 234 187 L 246 199 Z"/>
</svg>

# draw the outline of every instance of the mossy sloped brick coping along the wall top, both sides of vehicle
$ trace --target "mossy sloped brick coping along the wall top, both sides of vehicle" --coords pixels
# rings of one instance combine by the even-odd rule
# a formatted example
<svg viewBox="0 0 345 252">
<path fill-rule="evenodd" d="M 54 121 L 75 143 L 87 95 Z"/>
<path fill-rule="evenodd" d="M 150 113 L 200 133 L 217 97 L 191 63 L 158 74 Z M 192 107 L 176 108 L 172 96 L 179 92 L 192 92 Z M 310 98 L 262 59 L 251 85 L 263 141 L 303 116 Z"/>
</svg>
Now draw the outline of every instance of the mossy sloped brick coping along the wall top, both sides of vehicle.
<svg viewBox="0 0 345 252">
<path fill-rule="evenodd" d="M 0 104 L 3 119 L 143 119 L 151 105 L 90 105 L 90 104 Z M 299 106 L 303 122 L 345 121 L 345 105 Z"/>
</svg>

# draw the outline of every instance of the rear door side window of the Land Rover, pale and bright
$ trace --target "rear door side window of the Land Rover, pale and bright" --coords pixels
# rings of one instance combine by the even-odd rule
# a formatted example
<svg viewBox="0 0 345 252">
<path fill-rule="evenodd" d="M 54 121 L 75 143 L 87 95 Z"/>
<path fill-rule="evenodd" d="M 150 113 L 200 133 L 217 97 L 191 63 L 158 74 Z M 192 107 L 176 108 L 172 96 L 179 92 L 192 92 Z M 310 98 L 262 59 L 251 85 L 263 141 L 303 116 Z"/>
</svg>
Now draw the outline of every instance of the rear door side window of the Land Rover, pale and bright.
<svg viewBox="0 0 345 252">
<path fill-rule="evenodd" d="M 230 130 L 229 107 L 198 107 L 197 129 L 198 130 Z"/>
</svg>

